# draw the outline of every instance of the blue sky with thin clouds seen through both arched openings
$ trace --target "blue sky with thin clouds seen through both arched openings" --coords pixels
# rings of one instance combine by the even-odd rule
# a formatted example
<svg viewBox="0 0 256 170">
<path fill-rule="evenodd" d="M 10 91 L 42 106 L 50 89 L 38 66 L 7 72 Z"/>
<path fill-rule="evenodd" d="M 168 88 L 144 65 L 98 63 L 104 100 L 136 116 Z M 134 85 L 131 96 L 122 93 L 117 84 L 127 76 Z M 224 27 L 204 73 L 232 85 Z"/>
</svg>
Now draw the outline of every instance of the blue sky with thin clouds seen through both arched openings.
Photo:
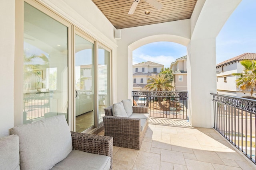
<svg viewBox="0 0 256 170">
<path fill-rule="evenodd" d="M 256 0 L 242 0 L 216 37 L 216 64 L 243 53 L 256 53 Z M 170 67 L 186 55 L 186 47 L 155 42 L 135 49 L 132 55 L 133 64 L 152 61 Z"/>
</svg>

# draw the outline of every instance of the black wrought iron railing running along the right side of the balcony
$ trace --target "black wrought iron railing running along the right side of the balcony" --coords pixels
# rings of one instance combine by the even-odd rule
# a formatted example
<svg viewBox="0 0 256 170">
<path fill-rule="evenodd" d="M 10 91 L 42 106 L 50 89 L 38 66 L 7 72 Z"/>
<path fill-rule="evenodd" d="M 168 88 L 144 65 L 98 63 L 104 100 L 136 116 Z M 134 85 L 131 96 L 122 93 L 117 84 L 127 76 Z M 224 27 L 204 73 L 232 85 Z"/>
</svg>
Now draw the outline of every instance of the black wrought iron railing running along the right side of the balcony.
<svg viewBox="0 0 256 170">
<path fill-rule="evenodd" d="M 214 129 L 256 164 L 256 100 L 220 94 L 212 96 Z"/>
</svg>

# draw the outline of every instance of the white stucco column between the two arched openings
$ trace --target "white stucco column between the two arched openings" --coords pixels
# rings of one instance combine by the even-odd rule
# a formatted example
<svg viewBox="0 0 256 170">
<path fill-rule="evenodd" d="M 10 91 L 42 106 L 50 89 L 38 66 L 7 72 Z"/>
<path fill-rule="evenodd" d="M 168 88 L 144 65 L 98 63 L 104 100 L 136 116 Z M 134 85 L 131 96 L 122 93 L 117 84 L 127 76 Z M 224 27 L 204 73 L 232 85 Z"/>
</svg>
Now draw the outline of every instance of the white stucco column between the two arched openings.
<svg viewBox="0 0 256 170">
<path fill-rule="evenodd" d="M 215 38 L 192 39 L 187 46 L 189 121 L 193 127 L 213 127 L 213 103 L 216 92 Z"/>
</svg>

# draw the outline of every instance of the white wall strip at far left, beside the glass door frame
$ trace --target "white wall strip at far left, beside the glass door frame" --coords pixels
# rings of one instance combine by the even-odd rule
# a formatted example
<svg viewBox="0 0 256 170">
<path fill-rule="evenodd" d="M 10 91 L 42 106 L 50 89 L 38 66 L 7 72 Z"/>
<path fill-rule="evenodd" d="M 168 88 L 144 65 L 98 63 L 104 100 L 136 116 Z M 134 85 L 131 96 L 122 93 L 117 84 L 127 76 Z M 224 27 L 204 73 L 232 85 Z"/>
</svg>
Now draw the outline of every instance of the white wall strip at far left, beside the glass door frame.
<svg viewBox="0 0 256 170">
<path fill-rule="evenodd" d="M 0 1 L 0 137 L 14 124 L 15 0 Z"/>
</svg>

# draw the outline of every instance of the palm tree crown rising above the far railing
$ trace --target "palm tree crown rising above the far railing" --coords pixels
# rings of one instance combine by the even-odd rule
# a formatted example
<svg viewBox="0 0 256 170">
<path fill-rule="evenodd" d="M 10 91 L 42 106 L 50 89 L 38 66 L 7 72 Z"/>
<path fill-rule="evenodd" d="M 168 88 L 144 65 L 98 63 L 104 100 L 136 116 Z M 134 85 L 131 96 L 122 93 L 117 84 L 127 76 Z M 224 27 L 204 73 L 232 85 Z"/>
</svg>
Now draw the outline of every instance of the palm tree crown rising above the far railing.
<svg viewBox="0 0 256 170">
<path fill-rule="evenodd" d="M 158 74 L 157 76 L 151 77 L 148 80 L 148 84 L 145 86 L 146 90 L 172 90 L 173 86 L 171 85 L 169 77 L 166 77 L 166 74 Z"/>
</svg>

